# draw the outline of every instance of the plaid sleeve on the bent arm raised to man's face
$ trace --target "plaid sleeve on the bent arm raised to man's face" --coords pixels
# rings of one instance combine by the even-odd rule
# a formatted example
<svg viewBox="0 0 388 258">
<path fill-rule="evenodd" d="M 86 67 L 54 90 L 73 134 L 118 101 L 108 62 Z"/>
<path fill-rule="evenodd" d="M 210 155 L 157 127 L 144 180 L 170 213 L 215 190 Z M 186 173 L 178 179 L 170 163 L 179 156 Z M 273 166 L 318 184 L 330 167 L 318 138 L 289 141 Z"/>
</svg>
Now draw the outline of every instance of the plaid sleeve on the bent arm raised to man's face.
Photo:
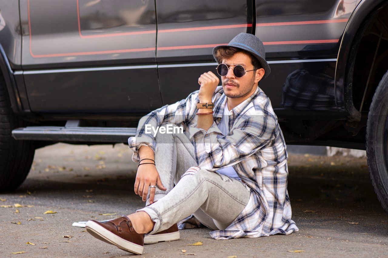
<svg viewBox="0 0 388 258">
<path fill-rule="evenodd" d="M 232 166 L 264 148 L 274 136 L 274 117 L 263 115 L 243 115 L 230 135 L 217 138 L 220 132 L 215 122 L 206 131 L 191 127 L 194 153 L 201 169 L 215 171 Z M 218 130 L 217 130 L 218 129 Z"/>
</svg>

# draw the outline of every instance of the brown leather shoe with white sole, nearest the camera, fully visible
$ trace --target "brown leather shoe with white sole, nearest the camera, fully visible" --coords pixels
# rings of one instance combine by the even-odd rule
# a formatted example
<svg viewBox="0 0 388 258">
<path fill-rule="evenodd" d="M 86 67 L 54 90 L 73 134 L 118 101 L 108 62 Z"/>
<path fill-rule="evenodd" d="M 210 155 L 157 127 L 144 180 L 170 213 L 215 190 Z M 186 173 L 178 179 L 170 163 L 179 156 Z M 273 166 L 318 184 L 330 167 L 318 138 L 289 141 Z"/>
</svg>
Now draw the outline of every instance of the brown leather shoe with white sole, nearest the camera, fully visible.
<svg viewBox="0 0 388 258">
<path fill-rule="evenodd" d="M 144 234 L 138 234 L 132 227 L 131 220 L 122 216 L 107 222 L 89 220 L 85 228 L 88 233 L 97 239 L 118 248 L 141 255 L 144 249 Z"/>
</svg>

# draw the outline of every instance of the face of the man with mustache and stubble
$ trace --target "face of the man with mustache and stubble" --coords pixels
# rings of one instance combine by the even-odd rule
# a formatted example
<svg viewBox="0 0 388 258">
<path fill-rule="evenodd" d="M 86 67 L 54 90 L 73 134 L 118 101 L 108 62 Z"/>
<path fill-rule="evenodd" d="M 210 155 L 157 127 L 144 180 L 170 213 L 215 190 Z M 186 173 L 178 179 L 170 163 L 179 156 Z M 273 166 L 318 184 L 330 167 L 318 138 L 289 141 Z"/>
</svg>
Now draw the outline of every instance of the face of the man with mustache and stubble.
<svg viewBox="0 0 388 258">
<path fill-rule="evenodd" d="M 233 64 L 228 65 L 231 68 L 229 68 L 227 75 L 221 76 L 222 88 L 228 98 L 240 98 L 252 93 L 253 89 L 256 89 L 258 81 L 264 76 L 263 68 L 246 72 L 242 77 L 234 76 L 234 65 L 240 64 L 246 71 L 253 69 L 251 58 L 244 52 L 237 52 L 230 58 L 222 59 L 222 63 Z"/>
</svg>

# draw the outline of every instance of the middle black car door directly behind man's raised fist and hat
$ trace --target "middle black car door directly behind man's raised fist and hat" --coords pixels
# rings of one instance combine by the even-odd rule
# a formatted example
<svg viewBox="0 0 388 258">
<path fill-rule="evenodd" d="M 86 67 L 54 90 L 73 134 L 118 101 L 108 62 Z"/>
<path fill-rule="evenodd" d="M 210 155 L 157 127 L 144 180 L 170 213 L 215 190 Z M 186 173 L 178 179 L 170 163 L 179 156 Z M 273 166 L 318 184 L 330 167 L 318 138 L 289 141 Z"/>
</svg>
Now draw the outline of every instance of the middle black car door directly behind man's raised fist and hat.
<svg viewBox="0 0 388 258">
<path fill-rule="evenodd" d="M 252 1 L 156 0 L 159 83 L 164 104 L 199 89 L 204 72 L 215 74 L 213 47 L 252 33 Z"/>
</svg>

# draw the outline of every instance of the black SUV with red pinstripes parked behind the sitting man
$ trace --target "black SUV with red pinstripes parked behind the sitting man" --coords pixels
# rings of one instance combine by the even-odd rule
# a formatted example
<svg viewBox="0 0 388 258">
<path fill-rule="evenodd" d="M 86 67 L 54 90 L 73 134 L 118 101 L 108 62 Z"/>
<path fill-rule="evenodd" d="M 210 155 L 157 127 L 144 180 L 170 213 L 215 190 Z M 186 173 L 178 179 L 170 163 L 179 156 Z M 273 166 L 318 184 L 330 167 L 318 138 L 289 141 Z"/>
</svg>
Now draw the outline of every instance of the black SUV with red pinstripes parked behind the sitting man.
<svg viewBox="0 0 388 258">
<path fill-rule="evenodd" d="M 263 41 L 259 83 L 289 144 L 363 149 L 388 212 L 386 0 L 0 0 L 0 190 L 36 148 L 127 143 L 198 89 L 212 49 Z"/>
</svg>

